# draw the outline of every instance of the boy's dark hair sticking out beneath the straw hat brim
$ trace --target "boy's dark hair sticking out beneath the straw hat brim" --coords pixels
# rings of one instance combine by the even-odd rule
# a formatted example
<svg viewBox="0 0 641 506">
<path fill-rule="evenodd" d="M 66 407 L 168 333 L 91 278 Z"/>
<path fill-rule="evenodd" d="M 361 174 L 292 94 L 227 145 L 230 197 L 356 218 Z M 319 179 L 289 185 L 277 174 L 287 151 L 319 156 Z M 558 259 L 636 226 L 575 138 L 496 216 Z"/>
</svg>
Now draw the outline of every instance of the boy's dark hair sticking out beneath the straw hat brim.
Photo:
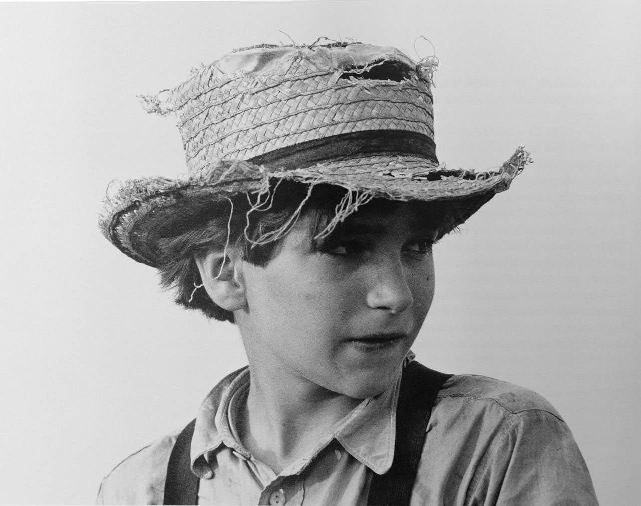
<svg viewBox="0 0 641 506">
<path fill-rule="evenodd" d="M 208 208 L 205 216 L 192 220 L 184 233 L 160 241 L 163 251 L 158 270 L 164 288 L 176 290 L 176 304 L 188 309 L 199 309 L 209 318 L 234 323 L 234 315 L 215 304 L 205 290 L 196 290 L 202 283 L 194 257 L 212 247 L 240 247 L 244 259 L 253 265 L 265 266 L 279 244 L 294 225 L 297 217 L 311 217 L 310 236 L 313 246 L 320 249 L 327 240 L 317 238 L 337 215 L 337 206 L 349 197 L 349 191 L 330 184 L 308 184 L 279 181 L 271 188 L 271 198 L 258 208 L 249 202 L 247 195 L 222 200 Z M 351 192 L 355 195 L 354 192 Z M 461 202 L 413 201 L 417 211 L 426 216 L 439 231 L 438 238 L 449 233 L 461 220 L 458 209 Z M 374 199 L 365 206 L 393 211 L 398 202 Z M 481 205 L 481 203 L 479 203 Z M 231 212 L 233 208 L 233 213 Z M 294 218 L 294 219 L 292 219 Z M 322 234 L 324 235 L 324 234 Z M 330 234 L 331 235 L 331 234 Z"/>
</svg>

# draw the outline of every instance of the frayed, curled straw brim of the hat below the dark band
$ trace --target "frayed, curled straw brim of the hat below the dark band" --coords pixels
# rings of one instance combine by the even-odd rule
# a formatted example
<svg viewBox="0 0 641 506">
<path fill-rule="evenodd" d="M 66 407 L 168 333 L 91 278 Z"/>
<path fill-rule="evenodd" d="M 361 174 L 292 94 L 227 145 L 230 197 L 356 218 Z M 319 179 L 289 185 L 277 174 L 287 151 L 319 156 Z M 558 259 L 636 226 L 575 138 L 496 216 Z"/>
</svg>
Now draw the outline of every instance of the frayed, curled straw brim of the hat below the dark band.
<svg viewBox="0 0 641 506">
<path fill-rule="evenodd" d="M 449 170 L 424 158 L 399 155 L 360 156 L 293 170 L 222 160 L 177 179 L 142 177 L 113 182 L 103 201 L 99 227 L 129 257 L 158 266 L 160 238 L 194 226 L 196 216 L 202 219 L 213 212 L 217 202 L 242 193 L 265 193 L 279 179 L 333 184 L 367 199 L 460 200 L 461 208 L 452 224 L 456 226 L 495 193 L 507 190 L 530 161 L 522 147 L 500 168 L 487 172 Z"/>
</svg>

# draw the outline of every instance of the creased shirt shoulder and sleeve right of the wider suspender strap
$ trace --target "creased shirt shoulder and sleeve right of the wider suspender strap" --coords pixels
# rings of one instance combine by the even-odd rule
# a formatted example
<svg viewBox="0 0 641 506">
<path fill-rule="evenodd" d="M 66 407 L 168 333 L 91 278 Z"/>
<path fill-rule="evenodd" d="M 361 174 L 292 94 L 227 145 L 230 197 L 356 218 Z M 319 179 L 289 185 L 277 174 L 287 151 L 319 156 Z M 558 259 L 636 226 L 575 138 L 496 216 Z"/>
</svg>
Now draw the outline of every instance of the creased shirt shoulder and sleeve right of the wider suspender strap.
<svg viewBox="0 0 641 506">
<path fill-rule="evenodd" d="M 597 504 L 567 423 L 543 396 L 508 382 L 477 375 L 447 380 L 422 457 L 416 504 L 499 496 L 510 504 Z"/>
</svg>

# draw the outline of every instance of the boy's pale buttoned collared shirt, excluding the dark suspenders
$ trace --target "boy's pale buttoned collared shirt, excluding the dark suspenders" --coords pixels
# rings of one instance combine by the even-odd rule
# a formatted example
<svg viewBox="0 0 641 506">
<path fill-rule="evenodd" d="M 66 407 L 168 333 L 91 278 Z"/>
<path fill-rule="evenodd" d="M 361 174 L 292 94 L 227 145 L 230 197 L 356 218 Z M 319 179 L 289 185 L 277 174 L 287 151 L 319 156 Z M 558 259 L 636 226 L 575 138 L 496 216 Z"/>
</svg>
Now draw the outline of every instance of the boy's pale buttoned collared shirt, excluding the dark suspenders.
<svg viewBox="0 0 641 506">
<path fill-rule="evenodd" d="M 394 457 L 400 377 L 363 400 L 312 450 L 276 475 L 238 441 L 233 413 L 249 371 L 204 400 L 192 439 L 199 504 L 365 505 L 372 473 Z M 162 504 L 178 432 L 121 462 L 99 504 Z M 481 376 L 456 375 L 438 394 L 412 490 L 418 505 L 595 505 L 590 475 L 565 422 L 541 396 Z"/>
</svg>

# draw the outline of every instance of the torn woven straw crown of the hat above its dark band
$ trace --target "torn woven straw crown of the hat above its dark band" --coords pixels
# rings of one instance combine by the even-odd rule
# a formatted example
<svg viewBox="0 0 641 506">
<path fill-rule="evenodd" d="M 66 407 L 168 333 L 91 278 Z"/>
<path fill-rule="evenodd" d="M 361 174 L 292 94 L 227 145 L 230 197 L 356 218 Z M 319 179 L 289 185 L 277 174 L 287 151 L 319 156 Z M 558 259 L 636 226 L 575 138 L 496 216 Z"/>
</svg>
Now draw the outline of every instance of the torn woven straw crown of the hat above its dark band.
<svg viewBox="0 0 641 506">
<path fill-rule="evenodd" d="M 193 72 L 165 95 L 165 110 L 178 117 L 191 174 L 371 131 L 419 135 L 433 153 L 434 65 L 372 44 L 249 47 Z"/>
</svg>

